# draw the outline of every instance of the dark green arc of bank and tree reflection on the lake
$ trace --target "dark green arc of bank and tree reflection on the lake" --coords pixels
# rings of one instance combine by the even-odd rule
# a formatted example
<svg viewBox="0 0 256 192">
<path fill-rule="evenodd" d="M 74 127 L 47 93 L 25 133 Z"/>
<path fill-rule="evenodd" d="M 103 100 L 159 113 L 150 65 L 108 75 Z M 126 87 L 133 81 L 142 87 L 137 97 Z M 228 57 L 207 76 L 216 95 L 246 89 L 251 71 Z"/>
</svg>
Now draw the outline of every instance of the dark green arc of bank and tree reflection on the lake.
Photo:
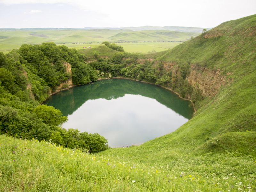
<svg viewBox="0 0 256 192">
<path fill-rule="evenodd" d="M 159 103 L 187 119 L 193 115 L 193 108 L 189 101 L 182 100 L 176 94 L 159 86 L 127 79 L 100 80 L 73 87 L 52 95 L 45 103 L 61 110 L 67 116 L 76 111 L 87 100 L 99 98 L 111 100 L 123 97 L 125 94 L 142 95 L 156 99 Z"/>
</svg>

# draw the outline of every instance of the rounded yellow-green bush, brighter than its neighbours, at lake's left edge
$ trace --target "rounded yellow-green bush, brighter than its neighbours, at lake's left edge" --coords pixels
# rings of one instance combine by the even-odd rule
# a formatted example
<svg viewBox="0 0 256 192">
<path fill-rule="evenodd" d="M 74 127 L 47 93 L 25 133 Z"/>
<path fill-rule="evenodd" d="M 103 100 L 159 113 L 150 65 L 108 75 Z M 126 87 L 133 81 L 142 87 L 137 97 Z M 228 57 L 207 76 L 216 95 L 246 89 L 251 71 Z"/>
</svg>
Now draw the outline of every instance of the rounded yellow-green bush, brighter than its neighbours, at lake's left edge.
<svg viewBox="0 0 256 192">
<path fill-rule="evenodd" d="M 60 110 L 55 109 L 52 106 L 39 105 L 34 109 L 34 113 L 48 125 L 58 126 L 68 120 L 66 116 L 62 116 Z"/>
</svg>

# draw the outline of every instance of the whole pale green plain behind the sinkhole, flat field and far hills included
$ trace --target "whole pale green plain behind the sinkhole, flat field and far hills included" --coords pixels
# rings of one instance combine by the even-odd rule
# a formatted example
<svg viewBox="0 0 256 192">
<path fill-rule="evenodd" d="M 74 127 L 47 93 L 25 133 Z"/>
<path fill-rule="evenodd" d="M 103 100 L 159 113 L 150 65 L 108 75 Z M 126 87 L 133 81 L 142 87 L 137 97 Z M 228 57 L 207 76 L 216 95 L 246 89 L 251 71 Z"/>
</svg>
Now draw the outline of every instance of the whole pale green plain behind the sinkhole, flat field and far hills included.
<svg viewBox="0 0 256 192">
<path fill-rule="evenodd" d="M 125 43 L 127 52 L 147 53 L 153 50 L 163 51 L 174 47 L 173 43 L 153 41 L 186 41 L 198 33 L 177 31 L 128 31 L 128 30 L 0 30 L 0 51 L 7 53 L 12 49 L 19 48 L 22 44 L 41 44 L 43 42 L 54 42 L 65 44 L 72 48 L 83 48 L 84 46 L 95 46 L 103 41 L 152 41 L 150 44 Z M 124 33 L 128 33 L 125 36 Z M 121 38 L 122 37 L 122 38 Z M 124 38 L 123 38 L 124 37 Z M 121 38 L 121 39 L 120 39 Z"/>
</svg>

